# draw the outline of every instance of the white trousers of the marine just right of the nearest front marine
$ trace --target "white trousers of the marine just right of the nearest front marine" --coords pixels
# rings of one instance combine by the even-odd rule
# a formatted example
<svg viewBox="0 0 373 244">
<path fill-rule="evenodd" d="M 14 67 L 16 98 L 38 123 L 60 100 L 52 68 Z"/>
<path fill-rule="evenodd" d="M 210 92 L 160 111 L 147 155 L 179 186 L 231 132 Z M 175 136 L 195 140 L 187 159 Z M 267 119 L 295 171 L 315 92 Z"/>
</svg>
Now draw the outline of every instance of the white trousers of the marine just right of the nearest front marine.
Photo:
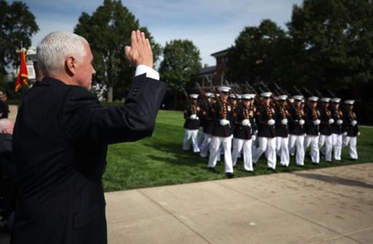
<svg viewBox="0 0 373 244">
<path fill-rule="evenodd" d="M 237 163 L 237 158 L 242 151 L 244 154 L 244 168 L 247 171 L 253 171 L 253 157 L 251 155 L 251 144 L 253 141 L 243 140 L 238 138 L 233 138 L 233 153 L 232 153 L 232 163 L 233 167 Z"/>
</svg>

